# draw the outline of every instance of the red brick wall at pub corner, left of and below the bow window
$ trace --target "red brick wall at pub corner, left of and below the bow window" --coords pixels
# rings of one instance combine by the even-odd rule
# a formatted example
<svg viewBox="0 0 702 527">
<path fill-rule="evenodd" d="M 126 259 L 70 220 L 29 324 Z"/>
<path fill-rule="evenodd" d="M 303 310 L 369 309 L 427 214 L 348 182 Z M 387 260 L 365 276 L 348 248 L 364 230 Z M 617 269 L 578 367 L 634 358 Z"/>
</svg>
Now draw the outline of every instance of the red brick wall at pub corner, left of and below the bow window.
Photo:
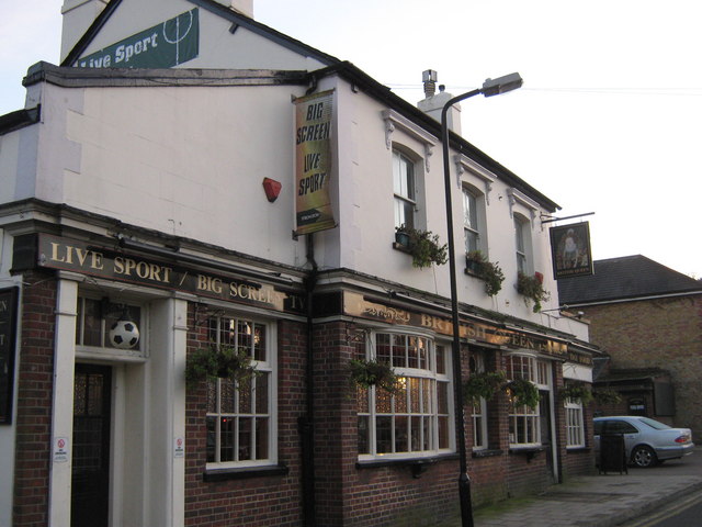
<svg viewBox="0 0 702 527">
<path fill-rule="evenodd" d="M 358 418 L 348 363 L 356 352 L 352 324 L 315 329 L 317 518 L 319 526 L 421 525 L 457 512 L 458 463 L 358 469 Z"/>
</svg>

